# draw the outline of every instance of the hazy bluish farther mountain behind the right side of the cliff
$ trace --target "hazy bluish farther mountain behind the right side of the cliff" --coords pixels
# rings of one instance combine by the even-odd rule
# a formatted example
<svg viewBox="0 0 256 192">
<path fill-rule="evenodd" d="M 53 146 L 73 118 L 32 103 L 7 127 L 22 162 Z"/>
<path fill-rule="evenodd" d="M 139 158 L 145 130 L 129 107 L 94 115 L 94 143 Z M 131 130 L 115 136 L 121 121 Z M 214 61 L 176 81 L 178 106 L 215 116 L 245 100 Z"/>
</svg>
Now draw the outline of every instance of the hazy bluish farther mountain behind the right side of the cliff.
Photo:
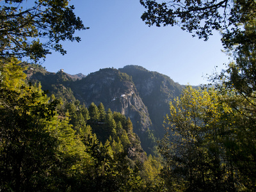
<svg viewBox="0 0 256 192">
<path fill-rule="evenodd" d="M 140 66 L 127 65 L 119 70 L 132 77 L 143 103 L 148 108 L 154 129 L 157 130 L 156 135 L 162 137 L 163 116 L 169 113 L 169 102 L 180 95 L 182 86 L 168 76 L 150 72 Z"/>
</svg>

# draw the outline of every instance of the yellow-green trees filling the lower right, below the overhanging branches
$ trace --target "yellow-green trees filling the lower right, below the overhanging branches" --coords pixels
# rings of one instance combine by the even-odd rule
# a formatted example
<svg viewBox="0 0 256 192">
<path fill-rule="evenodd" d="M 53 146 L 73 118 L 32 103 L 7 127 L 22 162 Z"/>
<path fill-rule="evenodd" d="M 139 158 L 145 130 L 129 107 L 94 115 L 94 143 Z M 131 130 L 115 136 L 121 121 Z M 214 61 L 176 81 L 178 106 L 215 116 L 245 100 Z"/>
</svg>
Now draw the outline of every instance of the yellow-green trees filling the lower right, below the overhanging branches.
<svg viewBox="0 0 256 192">
<path fill-rule="evenodd" d="M 252 108 L 236 90 L 217 92 L 190 86 L 170 102 L 167 134 L 159 143 L 168 188 L 253 191 L 255 114 L 248 111 Z"/>
</svg>

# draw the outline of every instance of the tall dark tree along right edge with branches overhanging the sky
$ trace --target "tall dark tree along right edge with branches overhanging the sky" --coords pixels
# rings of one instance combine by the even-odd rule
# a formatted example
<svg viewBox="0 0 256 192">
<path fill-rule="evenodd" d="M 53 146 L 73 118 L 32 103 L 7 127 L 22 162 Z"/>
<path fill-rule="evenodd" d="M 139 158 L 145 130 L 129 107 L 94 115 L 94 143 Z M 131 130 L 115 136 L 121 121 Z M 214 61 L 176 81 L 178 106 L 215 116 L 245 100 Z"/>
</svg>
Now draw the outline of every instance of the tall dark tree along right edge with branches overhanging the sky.
<svg viewBox="0 0 256 192">
<path fill-rule="evenodd" d="M 244 187 L 239 188 L 239 183 L 236 183 L 236 188 L 255 191 L 255 1 L 140 2 L 147 8 L 141 18 L 150 26 L 179 25 L 205 40 L 212 35 L 212 30 L 221 31 L 224 48 L 234 58 L 227 69 L 212 77 L 235 116 L 233 132 L 223 146 L 232 166 L 236 167 L 241 186 Z M 227 118 L 221 125 L 228 121 Z M 166 156 L 167 154 L 168 152 Z"/>
</svg>

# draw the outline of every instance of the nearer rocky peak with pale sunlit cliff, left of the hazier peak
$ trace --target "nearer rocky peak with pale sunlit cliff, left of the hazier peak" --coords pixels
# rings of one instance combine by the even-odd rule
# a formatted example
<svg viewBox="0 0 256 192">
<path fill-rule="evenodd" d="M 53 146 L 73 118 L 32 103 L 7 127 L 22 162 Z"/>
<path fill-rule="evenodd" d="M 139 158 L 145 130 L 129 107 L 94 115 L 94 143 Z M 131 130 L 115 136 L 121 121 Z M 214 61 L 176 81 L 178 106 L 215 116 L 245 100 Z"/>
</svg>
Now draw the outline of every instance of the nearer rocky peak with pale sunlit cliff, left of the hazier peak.
<svg viewBox="0 0 256 192">
<path fill-rule="evenodd" d="M 134 132 L 139 135 L 147 128 L 152 129 L 147 107 L 127 74 L 113 68 L 101 69 L 77 82 L 74 93 L 86 105 L 102 102 L 106 109 L 131 118 Z"/>
</svg>

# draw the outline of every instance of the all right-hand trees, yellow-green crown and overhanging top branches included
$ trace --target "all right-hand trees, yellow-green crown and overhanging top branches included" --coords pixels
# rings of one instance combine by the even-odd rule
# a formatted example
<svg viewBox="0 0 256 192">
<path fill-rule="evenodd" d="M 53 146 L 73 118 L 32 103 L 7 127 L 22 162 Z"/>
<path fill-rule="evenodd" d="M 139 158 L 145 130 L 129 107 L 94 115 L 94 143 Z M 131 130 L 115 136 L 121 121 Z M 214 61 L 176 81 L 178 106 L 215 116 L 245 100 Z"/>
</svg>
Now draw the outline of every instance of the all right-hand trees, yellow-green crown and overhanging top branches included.
<svg viewBox="0 0 256 192">
<path fill-rule="evenodd" d="M 166 137 L 166 186 L 177 191 L 255 191 L 255 1 L 140 1 L 147 24 L 179 25 L 209 38 L 221 31 L 234 58 L 212 76 L 215 89 L 186 88 L 170 103 Z"/>
</svg>

